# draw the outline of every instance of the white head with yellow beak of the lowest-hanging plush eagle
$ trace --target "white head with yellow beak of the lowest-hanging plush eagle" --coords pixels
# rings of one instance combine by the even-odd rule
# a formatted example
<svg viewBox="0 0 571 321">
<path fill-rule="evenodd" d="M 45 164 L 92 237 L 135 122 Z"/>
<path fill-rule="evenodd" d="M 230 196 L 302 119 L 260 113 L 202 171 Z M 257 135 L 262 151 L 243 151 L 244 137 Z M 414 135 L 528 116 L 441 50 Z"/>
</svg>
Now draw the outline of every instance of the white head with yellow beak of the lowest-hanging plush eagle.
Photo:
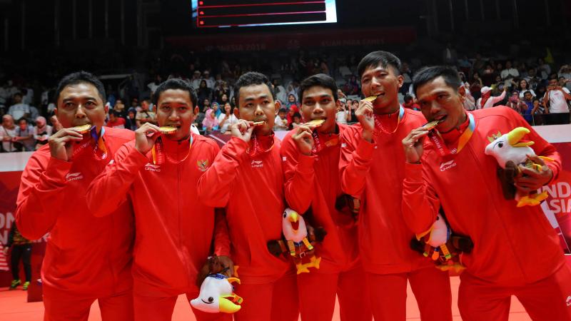
<svg viewBox="0 0 571 321">
<path fill-rule="evenodd" d="M 236 277 L 226 277 L 222 274 L 207 275 L 202 282 L 200 294 L 191 300 L 191 305 L 197 310 L 208 313 L 238 312 L 243 300 L 234 293 L 232 282 L 240 284 L 240 280 Z"/>
</svg>

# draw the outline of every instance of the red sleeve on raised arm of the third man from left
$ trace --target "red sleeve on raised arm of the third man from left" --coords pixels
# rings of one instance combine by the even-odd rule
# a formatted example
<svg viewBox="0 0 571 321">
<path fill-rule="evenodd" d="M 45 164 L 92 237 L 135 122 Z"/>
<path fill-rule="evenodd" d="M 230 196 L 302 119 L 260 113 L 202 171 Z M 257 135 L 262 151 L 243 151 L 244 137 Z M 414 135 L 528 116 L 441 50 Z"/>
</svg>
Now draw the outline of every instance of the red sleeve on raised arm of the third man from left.
<svg viewBox="0 0 571 321">
<path fill-rule="evenodd" d="M 233 137 L 226 143 L 212 166 L 198 179 L 198 199 L 202 203 L 213 208 L 226 207 L 246 148 L 248 143 L 241 138 Z"/>
</svg>

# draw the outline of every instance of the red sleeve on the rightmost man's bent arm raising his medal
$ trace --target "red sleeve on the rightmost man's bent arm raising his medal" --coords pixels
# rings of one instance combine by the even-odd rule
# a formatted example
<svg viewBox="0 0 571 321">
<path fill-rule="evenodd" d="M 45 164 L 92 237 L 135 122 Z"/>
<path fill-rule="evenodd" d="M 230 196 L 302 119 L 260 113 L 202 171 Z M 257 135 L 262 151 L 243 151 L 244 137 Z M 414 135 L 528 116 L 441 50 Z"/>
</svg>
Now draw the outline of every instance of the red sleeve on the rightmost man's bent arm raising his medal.
<svg viewBox="0 0 571 321">
<path fill-rule="evenodd" d="M 423 174 L 423 164 L 405 164 L 403 180 L 403 218 L 415 234 L 426 232 L 440 209 L 438 195 Z"/>
</svg>

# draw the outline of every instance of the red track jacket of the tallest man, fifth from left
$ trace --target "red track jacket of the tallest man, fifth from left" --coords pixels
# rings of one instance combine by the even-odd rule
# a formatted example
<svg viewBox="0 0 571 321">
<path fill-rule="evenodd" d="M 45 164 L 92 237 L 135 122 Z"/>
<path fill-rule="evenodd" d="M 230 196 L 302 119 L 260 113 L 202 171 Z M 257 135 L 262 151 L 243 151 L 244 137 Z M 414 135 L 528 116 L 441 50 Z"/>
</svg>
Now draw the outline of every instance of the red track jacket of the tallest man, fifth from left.
<svg viewBox="0 0 571 321">
<path fill-rule="evenodd" d="M 383 116 L 388 128 L 396 126 L 395 114 Z M 390 123 L 390 125 L 389 125 Z M 378 133 L 373 143 L 361 138 L 361 126 L 341 135 L 341 188 L 361 198 L 359 223 L 363 268 L 377 274 L 403 273 L 433 264 L 410 249 L 414 233 L 400 208 L 405 178 L 405 153 L 401 141 L 413 128 L 426 123 L 418 111 L 405 109 L 395 133 Z"/>
</svg>

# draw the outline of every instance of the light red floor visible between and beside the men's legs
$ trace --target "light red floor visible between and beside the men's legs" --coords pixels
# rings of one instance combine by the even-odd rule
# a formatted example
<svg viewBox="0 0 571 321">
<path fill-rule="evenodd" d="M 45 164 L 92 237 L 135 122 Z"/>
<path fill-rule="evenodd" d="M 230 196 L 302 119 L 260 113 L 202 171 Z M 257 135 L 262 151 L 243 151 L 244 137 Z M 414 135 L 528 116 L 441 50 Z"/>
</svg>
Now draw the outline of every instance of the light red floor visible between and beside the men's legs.
<svg viewBox="0 0 571 321">
<path fill-rule="evenodd" d="M 453 315 L 454 321 L 460 321 L 460 313 L 456 306 L 458 300 L 458 285 L 460 280 L 458 277 L 452 277 L 452 294 L 453 294 Z M 26 303 L 26 292 L 22 290 L 9 291 L 6 287 L 0 288 L 0 320 L 1 321 L 41 321 L 44 314 L 44 305 L 42 302 Z M 338 310 L 335 310 L 334 320 L 338 320 Z M 91 315 L 89 321 L 99 321 L 98 305 L 95 303 L 91 307 Z M 186 302 L 186 297 L 178 297 L 174 310 L 173 320 L 194 321 L 191 309 Z M 407 302 L 407 320 L 419 320 L 420 314 L 416 307 L 413 292 L 408 289 Z M 510 311 L 510 321 L 529 321 L 522 305 L 515 297 L 512 298 L 512 307 Z"/>
</svg>

